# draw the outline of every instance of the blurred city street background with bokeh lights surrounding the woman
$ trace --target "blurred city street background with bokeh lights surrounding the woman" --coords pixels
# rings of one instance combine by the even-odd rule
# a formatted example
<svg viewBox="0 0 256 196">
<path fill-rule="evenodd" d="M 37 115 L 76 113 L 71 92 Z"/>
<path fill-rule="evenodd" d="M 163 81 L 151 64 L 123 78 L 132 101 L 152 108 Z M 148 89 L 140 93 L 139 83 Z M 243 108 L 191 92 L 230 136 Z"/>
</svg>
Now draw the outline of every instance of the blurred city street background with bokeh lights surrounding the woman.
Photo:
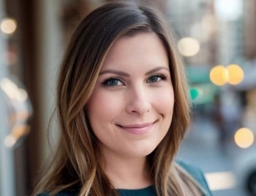
<svg viewBox="0 0 256 196">
<path fill-rule="evenodd" d="M 51 152 L 63 48 L 106 2 L 0 0 L 0 195 L 32 192 Z M 205 172 L 213 195 L 256 195 L 256 1 L 154 3 L 173 27 L 190 81 L 193 121 L 178 158 Z M 54 144 L 56 134 L 48 137 Z"/>
</svg>

